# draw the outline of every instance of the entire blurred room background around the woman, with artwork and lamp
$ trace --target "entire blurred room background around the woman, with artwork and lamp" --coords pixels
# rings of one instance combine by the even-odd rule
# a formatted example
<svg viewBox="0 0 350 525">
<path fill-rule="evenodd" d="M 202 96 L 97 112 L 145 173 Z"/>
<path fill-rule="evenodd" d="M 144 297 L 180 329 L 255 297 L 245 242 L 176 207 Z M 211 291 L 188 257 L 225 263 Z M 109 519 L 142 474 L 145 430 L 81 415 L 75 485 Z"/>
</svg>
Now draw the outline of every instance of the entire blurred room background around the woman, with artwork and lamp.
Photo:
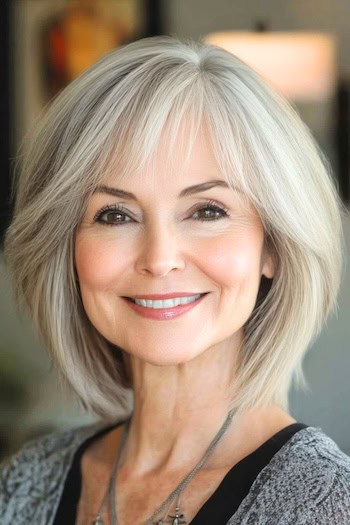
<svg viewBox="0 0 350 525">
<path fill-rule="evenodd" d="M 297 109 L 350 194 L 349 0 L 3 0 L 0 3 L 0 233 L 11 216 L 18 147 L 48 101 L 103 54 L 169 34 L 221 45 Z M 350 219 L 344 216 L 347 261 Z M 339 309 L 304 360 L 308 392 L 291 413 L 350 455 L 350 273 Z M 0 249 L 0 459 L 43 432 L 93 421 L 58 385 L 25 316 L 15 311 Z"/>
</svg>

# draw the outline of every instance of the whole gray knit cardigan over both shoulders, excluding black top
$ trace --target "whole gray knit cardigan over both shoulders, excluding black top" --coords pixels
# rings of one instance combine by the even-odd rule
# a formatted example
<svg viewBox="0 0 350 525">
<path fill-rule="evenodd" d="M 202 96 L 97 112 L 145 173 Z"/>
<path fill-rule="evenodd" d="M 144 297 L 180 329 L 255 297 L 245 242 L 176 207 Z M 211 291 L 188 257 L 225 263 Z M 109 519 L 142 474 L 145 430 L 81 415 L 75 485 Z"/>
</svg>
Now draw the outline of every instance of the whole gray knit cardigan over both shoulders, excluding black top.
<svg viewBox="0 0 350 525">
<path fill-rule="evenodd" d="M 102 428 L 49 434 L 7 460 L 0 468 L 0 524 L 52 524 L 74 453 Z M 282 446 L 227 522 L 302 524 L 350 525 L 350 457 L 316 427 L 299 430 Z"/>
</svg>

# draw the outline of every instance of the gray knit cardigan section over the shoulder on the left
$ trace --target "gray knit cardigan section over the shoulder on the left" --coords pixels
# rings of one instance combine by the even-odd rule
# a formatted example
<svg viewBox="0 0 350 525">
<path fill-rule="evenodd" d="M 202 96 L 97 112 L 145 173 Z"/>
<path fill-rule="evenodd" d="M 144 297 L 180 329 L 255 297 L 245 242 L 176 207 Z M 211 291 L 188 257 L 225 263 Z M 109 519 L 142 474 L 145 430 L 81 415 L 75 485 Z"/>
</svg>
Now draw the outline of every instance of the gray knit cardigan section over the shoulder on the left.
<svg viewBox="0 0 350 525">
<path fill-rule="evenodd" d="M 74 453 L 103 426 L 98 423 L 47 434 L 2 463 L 0 523 L 50 523 Z"/>
</svg>

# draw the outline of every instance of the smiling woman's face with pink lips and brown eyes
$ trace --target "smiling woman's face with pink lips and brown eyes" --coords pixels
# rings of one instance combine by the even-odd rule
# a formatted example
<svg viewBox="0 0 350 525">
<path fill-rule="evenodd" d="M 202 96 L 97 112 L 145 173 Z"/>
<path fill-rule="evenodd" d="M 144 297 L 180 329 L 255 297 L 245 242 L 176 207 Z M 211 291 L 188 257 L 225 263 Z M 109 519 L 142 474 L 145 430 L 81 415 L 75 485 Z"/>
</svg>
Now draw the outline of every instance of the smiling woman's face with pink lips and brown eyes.
<svg viewBox="0 0 350 525">
<path fill-rule="evenodd" d="M 181 175 L 167 174 L 162 159 L 160 150 L 152 172 L 122 181 L 116 173 L 94 193 L 76 232 L 75 264 L 95 328 L 130 355 L 171 365 L 238 347 L 261 275 L 271 278 L 274 268 L 257 213 L 225 187 L 205 133 Z M 165 309 L 125 299 L 170 293 L 206 295 Z"/>
</svg>

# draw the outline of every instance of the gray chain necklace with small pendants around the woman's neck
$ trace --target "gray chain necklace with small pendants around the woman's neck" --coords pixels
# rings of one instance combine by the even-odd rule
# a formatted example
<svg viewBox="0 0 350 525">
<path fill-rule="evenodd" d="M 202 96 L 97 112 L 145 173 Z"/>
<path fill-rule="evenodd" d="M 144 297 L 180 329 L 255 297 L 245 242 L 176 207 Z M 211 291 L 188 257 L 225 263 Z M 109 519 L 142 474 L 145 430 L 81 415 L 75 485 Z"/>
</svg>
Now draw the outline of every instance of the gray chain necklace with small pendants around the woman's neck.
<svg viewBox="0 0 350 525">
<path fill-rule="evenodd" d="M 214 439 L 211 441 L 209 447 L 205 451 L 202 458 L 199 460 L 196 466 L 189 472 L 189 474 L 187 474 L 187 476 L 177 485 L 177 487 L 171 492 L 171 494 L 169 494 L 169 496 L 163 501 L 163 503 L 145 521 L 144 525 L 154 525 L 154 524 L 164 525 L 166 522 L 169 522 L 169 520 L 172 525 L 183 525 L 187 523 L 186 518 L 180 509 L 180 495 L 185 490 L 187 485 L 190 483 L 192 478 L 197 474 L 197 472 L 206 463 L 209 456 L 213 453 L 215 447 L 218 445 L 219 441 L 222 439 L 223 435 L 228 429 L 232 421 L 234 413 L 235 413 L 234 409 L 229 411 L 223 425 L 217 432 Z M 117 454 L 116 460 L 113 465 L 109 484 L 105 492 L 105 495 L 103 497 L 102 503 L 100 505 L 99 511 L 96 514 L 94 521 L 92 522 L 92 525 L 104 525 L 102 514 L 105 509 L 108 499 L 109 499 L 109 504 L 110 504 L 112 525 L 118 525 L 118 519 L 117 519 L 117 513 L 116 513 L 116 508 L 117 508 L 116 506 L 116 478 L 117 478 L 118 467 L 120 464 L 121 452 L 122 452 L 122 449 L 124 448 L 124 444 L 126 441 L 128 430 L 129 430 L 130 419 L 127 420 L 125 428 L 123 430 L 118 454 Z M 172 504 L 175 498 L 176 498 L 176 506 L 175 506 L 174 514 L 168 514 L 170 505 Z M 159 517 L 159 515 L 161 515 L 161 517 Z"/>
</svg>

